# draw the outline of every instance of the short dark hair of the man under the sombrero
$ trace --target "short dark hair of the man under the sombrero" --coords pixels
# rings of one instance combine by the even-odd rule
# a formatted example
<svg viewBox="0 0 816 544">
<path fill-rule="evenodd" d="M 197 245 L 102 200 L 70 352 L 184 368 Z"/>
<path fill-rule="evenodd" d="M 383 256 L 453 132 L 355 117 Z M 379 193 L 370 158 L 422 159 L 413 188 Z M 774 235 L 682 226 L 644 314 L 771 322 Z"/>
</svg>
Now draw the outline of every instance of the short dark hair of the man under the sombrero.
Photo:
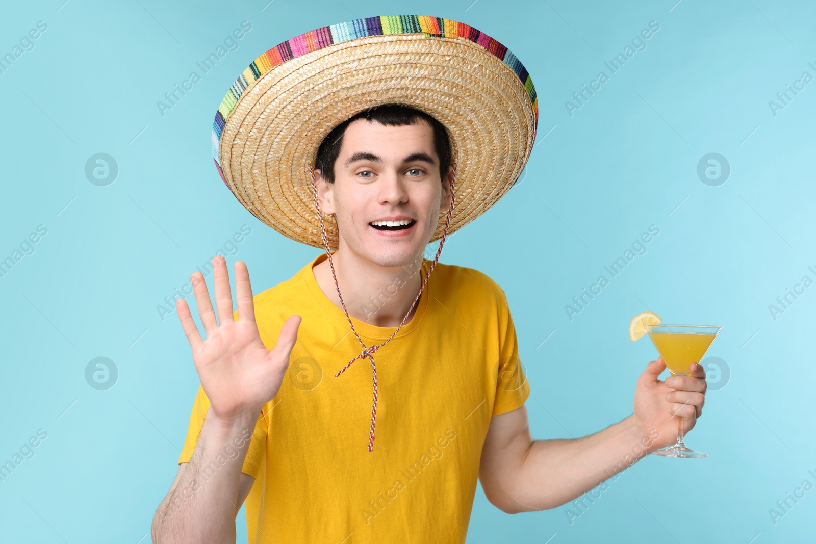
<svg viewBox="0 0 816 544">
<path fill-rule="evenodd" d="M 370 121 L 379 122 L 385 126 L 406 126 L 415 125 L 419 119 L 424 119 L 433 129 L 433 148 L 439 157 L 439 175 L 441 179 L 445 179 L 450 166 L 451 150 L 450 137 L 448 136 L 445 126 L 438 122 L 434 117 L 419 111 L 418 109 L 402 106 L 400 104 L 384 104 L 375 106 L 374 108 L 366 109 L 357 113 L 354 117 L 350 117 L 344 122 L 335 126 L 331 132 L 326 135 L 317 149 L 317 160 L 315 161 L 315 168 L 320 169 L 323 178 L 330 184 L 335 183 L 335 161 L 340 154 L 340 146 L 343 145 L 343 135 L 345 134 L 348 124 L 356 119 L 368 119 Z"/>
</svg>

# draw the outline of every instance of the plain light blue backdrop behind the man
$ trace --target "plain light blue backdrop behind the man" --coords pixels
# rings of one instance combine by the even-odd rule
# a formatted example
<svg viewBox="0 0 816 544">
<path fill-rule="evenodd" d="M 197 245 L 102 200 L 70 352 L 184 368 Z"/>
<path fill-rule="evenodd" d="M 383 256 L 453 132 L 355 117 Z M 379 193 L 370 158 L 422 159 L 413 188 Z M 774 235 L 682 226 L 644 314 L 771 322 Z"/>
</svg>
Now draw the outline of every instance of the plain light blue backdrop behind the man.
<svg viewBox="0 0 816 544">
<path fill-rule="evenodd" d="M 572 524 L 569 505 L 505 515 L 480 489 L 468 542 L 813 541 L 816 490 L 776 524 L 769 509 L 803 480 L 816 484 L 816 287 L 775 320 L 769 304 L 802 276 L 816 280 L 816 82 L 776 116 L 768 104 L 801 73 L 816 77 L 813 3 L 471 2 L 5 7 L 0 53 L 38 20 L 48 29 L 0 74 L 0 258 L 39 224 L 48 233 L 0 278 L 0 462 L 38 429 L 48 437 L 0 483 L 0 540 L 149 542 L 198 385 L 175 314 L 162 321 L 157 305 L 244 224 L 251 236 L 228 263 L 248 263 L 256 292 L 320 251 L 266 228 L 224 187 L 211 157 L 215 109 L 279 42 L 410 13 L 499 39 L 538 92 L 526 176 L 441 258 L 507 292 L 534 437 L 585 436 L 631 413 L 636 377 L 655 356 L 628 339 L 637 312 L 724 325 L 708 355 L 731 370 L 688 438 L 708 458 L 645 458 Z M 162 117 L 157 100 L 242 20 L 252 29 L 238 50 Z M 604 62 L 652 20 L 660 29 L 645 51 L 610 75 Z M 601 70 L 610 81 L 570 117 L 565 100 Z M 115 183 L 86 179 L 94 153 L 118 161 Z M 706 153 L 730 161 L 725 184 L 698 179 Z M 570 321 L 565 304 L 653 224 L 648 251 Z M 118 365 L 108 391 L 85 381 L 96 356 Z M 243 514 L 238 528 L 246 542 Z"/>
</svg>

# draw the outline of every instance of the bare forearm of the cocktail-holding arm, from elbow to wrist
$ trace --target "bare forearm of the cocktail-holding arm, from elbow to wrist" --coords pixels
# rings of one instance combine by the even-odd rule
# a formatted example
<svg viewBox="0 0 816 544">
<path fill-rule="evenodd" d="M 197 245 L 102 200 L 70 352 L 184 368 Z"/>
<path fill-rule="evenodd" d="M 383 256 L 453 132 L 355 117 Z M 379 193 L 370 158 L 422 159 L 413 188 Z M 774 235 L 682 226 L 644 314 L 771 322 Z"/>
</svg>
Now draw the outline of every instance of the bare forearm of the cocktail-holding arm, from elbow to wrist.
<svg viewBox="0 0 816 544">
<path fill-rule="evenodd" d="M 511 508 L 537 511 L 570 502 L 656 449 L 658 436 L 629 416 L 583 438 L 533 440 L 512 475 Z"/>
</svg>

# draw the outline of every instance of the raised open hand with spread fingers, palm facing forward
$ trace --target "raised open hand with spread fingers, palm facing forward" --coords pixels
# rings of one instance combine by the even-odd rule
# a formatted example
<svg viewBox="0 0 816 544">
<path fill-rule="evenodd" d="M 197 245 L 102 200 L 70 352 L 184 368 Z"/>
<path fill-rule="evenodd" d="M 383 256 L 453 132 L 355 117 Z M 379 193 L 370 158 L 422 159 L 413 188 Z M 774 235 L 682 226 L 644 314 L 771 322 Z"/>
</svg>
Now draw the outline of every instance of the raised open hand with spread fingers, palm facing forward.
<svg viewBox="0 0 816 544">
<path fill-rule="evenodd" d="M 179 320 L 193 350 L 193 363 L 210 400 L 211 414 L 224 421 L 247 415 L 257 417 L 261 407 L 272 400 L 281 387 L 301 318 L 290 316 L 283 324 L 276 346 L 268 350 L 255 324 L 255 306 L 246 264 L 236 261 L 234 266 L 238 305 L 235 321 L 227 263 L 220 256 L 212 259 L 212 263 L 218 323 L 201 272 L 193 272 L 190 280 L 206 340 L 202 340 L 198 333 L 184 299 L 175 303 Z"/>
</svg>

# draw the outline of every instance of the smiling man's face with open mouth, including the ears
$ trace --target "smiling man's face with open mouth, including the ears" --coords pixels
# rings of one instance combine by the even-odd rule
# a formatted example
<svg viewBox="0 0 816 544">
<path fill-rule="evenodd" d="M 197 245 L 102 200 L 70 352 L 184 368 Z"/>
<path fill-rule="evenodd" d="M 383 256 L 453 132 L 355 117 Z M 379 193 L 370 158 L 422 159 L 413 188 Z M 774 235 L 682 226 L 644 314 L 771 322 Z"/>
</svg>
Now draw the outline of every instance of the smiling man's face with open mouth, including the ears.
<svg viewBox="0 0 816 544">
<path fill-rule="evenodd" d="M 408 126 L 350 123 L 335 161 L 335 183 L 317 184 L 321 210 L 335 214 L 339 249 L 381 267 L 413 263 L 436 231 L 441 207 L 450 206 L 452 171 L 443 184 L 433 130 L 424 120 Z M 396 223 L 388 227 L 384 221 Z"/>
</svg>

